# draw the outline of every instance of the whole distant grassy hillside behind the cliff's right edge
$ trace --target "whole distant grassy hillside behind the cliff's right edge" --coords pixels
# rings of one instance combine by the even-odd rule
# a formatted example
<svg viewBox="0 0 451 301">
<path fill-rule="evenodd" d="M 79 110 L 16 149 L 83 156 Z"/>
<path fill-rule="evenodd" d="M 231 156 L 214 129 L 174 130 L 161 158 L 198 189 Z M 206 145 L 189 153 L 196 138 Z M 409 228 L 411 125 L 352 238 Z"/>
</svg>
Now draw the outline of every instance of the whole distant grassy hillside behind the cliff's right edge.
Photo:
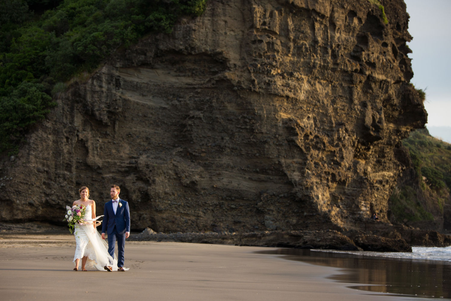
<svg viewBox="0 0 451 301">
<path fill-rule="evenodd" d="M 402 144 L 409 155 L 390 198 L 391 221 L 451 230 L 451 144 L 427 129 L 413 131 Z"/>
</svg>

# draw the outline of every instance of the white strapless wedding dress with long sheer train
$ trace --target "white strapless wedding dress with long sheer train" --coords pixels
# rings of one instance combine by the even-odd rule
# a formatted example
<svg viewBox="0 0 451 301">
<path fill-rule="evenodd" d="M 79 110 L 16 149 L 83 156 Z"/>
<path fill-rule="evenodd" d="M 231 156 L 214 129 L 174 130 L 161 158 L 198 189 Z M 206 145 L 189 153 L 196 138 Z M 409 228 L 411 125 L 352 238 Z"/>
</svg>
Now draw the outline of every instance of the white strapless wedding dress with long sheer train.
<svg viewBox="0 0 451 301">
<path fill-rule="evenodd" d="M 113 271 L 117 271 L 117 256 L 114 255 L 114 258 L 111 258 L 110 254 L 108 254 L 108 244 L 102 239 L 99 232 L 94 229 L 94 226 L 92 226 L 97 218 L 101 216 L 94 219 L 87 217 L 92 217 L 91 205 L 86 206 L 84 218 L 86 223 L 83 225 L 77 223 L 74 227 L 75 241 L 77 242 L 74 262 L 75 259 L 82 259 L 83 256 L 87 256 L 86 268 L 106 271 L 104 267 L 105 265 L 109 265 L 113 268 Z"/>
</svg>

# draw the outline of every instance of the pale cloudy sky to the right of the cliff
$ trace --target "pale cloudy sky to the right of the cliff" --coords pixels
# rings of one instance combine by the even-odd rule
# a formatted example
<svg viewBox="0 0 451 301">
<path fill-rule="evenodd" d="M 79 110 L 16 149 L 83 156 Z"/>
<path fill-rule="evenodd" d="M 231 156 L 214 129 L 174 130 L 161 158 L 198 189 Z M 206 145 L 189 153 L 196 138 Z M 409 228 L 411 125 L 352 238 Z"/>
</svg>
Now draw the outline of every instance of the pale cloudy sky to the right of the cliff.
<svg viewBox="0 0 451 301">
<path fill-rule="evenodd" d="M 451 143 L 451 0 L 404 2 L 413 37 L 407 44 L 414 70 L 410 82 L 426 89 L 429 133 Z"/>
</svg>

